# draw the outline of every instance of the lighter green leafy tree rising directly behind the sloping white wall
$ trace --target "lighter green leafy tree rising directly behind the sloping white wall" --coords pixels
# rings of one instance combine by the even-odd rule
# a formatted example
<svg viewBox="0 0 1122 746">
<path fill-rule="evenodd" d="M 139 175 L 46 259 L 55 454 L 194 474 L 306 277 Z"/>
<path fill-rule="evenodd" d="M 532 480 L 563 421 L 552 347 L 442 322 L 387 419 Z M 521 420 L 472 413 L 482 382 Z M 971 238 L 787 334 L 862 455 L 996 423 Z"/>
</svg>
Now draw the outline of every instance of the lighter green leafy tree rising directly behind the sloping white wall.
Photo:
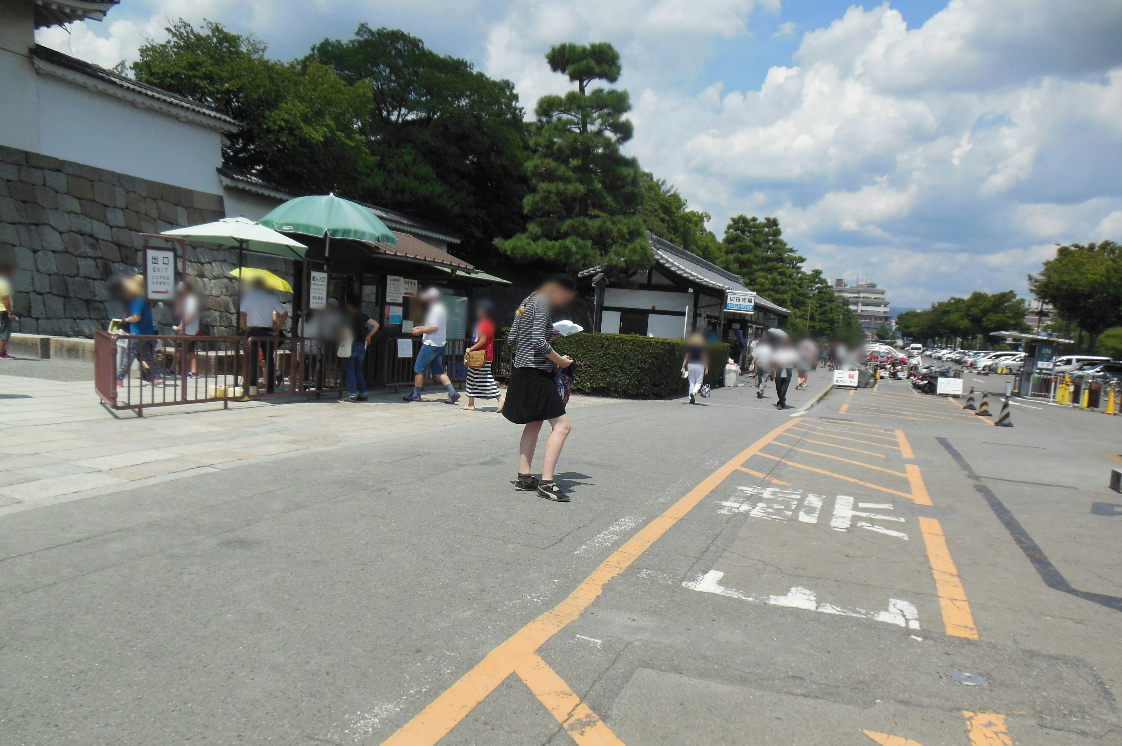
<svg viewBox="0 0 1122 746">
<path fill-rule="evenodd" d="M 212 21 L 195 29 L 180 20 L 167 34 L 140 47 L 132 72 L 238 120 L 241 129 L 223 146 L 227 164 L 310 192 L 357 194 L 370 178 L 368 85 L 348 84 L 319 63 L 267 59 L 264 42 Z"/>
</svg>

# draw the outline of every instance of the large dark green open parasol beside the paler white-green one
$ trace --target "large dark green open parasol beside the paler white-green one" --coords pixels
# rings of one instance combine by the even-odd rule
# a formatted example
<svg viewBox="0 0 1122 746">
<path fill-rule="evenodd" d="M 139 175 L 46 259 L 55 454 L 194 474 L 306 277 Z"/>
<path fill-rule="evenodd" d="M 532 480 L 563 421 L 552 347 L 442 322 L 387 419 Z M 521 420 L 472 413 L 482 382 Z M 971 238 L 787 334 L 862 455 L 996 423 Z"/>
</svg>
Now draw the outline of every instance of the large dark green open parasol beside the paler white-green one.
<svg viewBox="0 0 1122 746">
<path fill-rule="evenodd" d="M 334 194 L 288 200 L 258 222 L 284 233 L 322 236 L 328 250 L 333 238 L 397 243 L 394 232 L 369 208 Z"/>
</svg>

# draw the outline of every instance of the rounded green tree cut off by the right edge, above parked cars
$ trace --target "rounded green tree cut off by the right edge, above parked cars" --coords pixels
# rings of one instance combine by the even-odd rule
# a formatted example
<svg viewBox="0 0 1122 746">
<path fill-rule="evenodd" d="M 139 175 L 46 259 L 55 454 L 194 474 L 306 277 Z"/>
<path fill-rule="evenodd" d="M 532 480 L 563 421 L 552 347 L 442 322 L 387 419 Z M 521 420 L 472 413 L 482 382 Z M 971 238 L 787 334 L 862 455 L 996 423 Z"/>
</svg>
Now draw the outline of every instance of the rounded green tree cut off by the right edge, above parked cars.
<svg viewBox="0 0 1122 746">
<path fill-rule="evenodd" d="M 1029 288 L 1051 303 L 1061 319 L 1086 331 L 1093 350 L 1103 331 L 1122 323 L 1122 246 L 1114 241 L 1061 246 L 1039 275 L 1029 275 Z"/>
</svg>

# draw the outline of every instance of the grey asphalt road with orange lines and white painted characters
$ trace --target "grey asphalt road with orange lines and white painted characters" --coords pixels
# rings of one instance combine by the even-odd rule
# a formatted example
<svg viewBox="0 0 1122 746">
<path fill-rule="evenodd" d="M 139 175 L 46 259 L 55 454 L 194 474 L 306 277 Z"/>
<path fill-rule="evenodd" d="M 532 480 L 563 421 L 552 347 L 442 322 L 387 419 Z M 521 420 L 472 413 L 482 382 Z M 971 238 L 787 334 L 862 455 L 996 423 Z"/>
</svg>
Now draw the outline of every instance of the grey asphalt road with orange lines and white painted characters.
<svg viewBox="0 0 1122 746">
<path fill-rule="evenodd" d="M 1122 743 L 1122 418 L 773 400 L 574 409 L 568 505 L 481 416 L 8 516 L 0 744 Z"/>
</svg>

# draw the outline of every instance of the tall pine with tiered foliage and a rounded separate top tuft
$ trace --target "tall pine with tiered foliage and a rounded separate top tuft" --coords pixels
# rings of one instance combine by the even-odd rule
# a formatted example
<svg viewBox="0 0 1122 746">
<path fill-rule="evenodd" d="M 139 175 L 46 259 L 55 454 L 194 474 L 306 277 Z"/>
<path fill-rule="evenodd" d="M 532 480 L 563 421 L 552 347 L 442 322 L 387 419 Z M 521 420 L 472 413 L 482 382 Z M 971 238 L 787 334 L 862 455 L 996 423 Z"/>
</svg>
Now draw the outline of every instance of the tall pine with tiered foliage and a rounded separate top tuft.
<svg viewBox="0 0 1122 746">
<path fill-rule="evenodd" d="M 539 99 L 526 165 L 526 230 L 495 245 L 517 259 L 545 259 L 570 270 L 651 266 L 638 214 L 641 171 L 619 149 L 632 137 L 624 118 L 631 101 L 626 91 L 590 88 L 619 79 L 619 54 L 606 43 L 561 44 L 545 59 L 577 90 Z"/>
</svg>

